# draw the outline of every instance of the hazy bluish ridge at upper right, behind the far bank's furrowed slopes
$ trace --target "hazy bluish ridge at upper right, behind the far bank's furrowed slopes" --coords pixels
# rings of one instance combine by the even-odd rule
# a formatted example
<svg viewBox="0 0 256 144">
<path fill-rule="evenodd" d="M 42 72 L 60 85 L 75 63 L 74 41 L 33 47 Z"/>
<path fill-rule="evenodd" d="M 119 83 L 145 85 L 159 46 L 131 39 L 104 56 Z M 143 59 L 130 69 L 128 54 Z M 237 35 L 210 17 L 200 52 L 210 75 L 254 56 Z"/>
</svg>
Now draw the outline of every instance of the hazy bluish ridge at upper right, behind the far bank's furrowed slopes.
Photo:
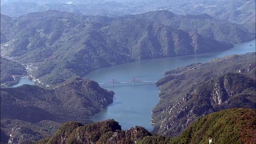
<svg viewBox="0 0 256 144">
<path fill-rule="evenodd" d="M 215 40 L 240 43 L 255 39 L 255 31 L 248 32 L 248 29 L 241 24 L 235 24 L 225 20 L 216 19 L 206 13 L 174 15 L 168 10 L 146 12 L 143 14 L 127 15 L 125 18 L 150 18 L 150 20 L 161 22 L 166 26 L 172 26 L 186 32 L 198 32 L 202 36 L 208 36 Z"/>
</svg>

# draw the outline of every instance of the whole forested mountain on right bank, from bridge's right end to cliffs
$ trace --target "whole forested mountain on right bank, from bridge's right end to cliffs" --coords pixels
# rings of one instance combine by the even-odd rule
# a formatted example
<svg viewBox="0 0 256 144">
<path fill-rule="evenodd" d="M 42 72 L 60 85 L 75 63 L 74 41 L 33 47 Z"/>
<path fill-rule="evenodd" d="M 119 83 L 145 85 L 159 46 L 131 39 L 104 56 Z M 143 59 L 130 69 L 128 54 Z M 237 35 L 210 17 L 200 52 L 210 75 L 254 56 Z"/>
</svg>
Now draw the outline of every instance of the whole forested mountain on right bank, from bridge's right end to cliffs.
<svg viewBox="0 0 256 144">
<path fill-rule="evenodd" d="M 154 132 L 178 136 L 198 118 L 228 108 L 256 108 L 255 52 L 165 72 L 152 110 Z"/>
</svg>

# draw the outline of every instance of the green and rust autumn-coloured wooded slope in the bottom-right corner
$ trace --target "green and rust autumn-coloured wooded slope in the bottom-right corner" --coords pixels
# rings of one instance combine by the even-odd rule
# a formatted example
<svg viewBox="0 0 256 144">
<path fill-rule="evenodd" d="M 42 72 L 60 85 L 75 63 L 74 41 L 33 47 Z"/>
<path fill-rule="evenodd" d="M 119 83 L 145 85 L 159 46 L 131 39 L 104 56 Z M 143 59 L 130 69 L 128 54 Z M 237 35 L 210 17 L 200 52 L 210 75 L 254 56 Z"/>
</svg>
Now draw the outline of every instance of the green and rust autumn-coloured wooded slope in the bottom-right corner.
<svg viewBox="0 0 256 144">
<path fill-rule="evenodd" d="M 176 138 L 146 136 L 138 144 L 254 144 L 255 133 L 255 109 L 233 108 L 200 118 Z"/>
</svg>

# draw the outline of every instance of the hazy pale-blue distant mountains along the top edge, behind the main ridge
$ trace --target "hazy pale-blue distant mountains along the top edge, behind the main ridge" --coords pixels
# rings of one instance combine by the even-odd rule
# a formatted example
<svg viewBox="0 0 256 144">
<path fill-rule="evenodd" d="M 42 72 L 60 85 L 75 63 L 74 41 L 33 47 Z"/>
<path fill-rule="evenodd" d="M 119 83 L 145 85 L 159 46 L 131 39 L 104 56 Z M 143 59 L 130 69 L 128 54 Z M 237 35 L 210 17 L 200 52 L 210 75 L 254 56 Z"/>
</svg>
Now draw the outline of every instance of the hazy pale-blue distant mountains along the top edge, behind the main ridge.
<svg viewBox="0 0 256 144">
<path fill-rule="evenodd" d="M 2 0 L 1 13 L 12 17 L 30 12 L 60 10 L 84 15 L 124 16 L 157 10 L 170 10 L 175 14 L 207 13 L 237 23 L 246 23 L 252 17 L 255 26 L 255 0 Z"/>
</svg>

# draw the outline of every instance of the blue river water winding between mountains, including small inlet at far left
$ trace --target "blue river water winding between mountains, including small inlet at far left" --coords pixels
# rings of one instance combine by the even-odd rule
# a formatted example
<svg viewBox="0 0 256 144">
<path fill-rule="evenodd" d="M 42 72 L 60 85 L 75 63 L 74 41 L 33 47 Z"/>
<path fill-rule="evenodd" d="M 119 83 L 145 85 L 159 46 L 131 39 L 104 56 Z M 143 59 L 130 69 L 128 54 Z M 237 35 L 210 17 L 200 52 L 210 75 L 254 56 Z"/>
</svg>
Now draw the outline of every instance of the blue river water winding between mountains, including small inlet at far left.
<svg viewBox="0 0 256 144">
<path fill-rule="evenodd" d="M 142 81 L 159 80 L 164 76 L 164 72 L 195 62 L 207 62 L 214 58 L 221 58 L 231 54 L 245 54 L 255 52 L 255 40 L 235 45 L 234 48 L 222 52 L 208 54 L 196 54 L 190 56 L 179 56 L 172 58 L 157 58 L 151 60 L 141 60 L 130 62 L 110 68 L 95 70 L 84 78 L 95 80 L 98 83 L 105 83 L 111 79 L 119 82 L 127 82 L 132 78 Z M 249 44 L 254 44 L 248 46 Z M 12 87 L 22 84 L 33 84 L 27 78 L 22 78 L 20 82 Z M 104 86 L 107 90 L 115 92 L 114 102 L 106 109 L 90 118 L 93 121 L 101 121 L 113 118 L 120 123 L 122 129 L 132 126 L 143 126 L 149 131 L 153 130 L 151 122 L 151 110 L 158 103 L 159 90 L 153 84 L 127 84 L 116 86 Z"/>
</svg>

